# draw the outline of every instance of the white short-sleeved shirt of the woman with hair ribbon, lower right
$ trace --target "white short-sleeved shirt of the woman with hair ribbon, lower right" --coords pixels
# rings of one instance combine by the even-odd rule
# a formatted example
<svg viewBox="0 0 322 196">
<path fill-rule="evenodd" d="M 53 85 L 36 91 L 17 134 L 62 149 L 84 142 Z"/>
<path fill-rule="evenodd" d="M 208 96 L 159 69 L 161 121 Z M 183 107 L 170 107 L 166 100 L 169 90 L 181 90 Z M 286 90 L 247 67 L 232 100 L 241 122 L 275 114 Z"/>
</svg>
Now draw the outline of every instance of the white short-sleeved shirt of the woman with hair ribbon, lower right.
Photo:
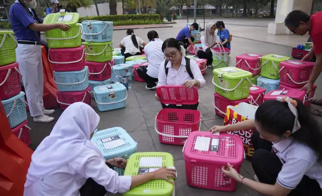
<svg viewBox="0 0 322 196">
<path fill-rule="evenodd" d="M 318 154 L 314 150 L 292 138 L 274 143 L 272 147 L 283 163 L 277 176 L 281 186 L 294 189 L 306 175 L 315 179 L 322 188 L 322 165 L 317 162 Z"/>
</svg>

